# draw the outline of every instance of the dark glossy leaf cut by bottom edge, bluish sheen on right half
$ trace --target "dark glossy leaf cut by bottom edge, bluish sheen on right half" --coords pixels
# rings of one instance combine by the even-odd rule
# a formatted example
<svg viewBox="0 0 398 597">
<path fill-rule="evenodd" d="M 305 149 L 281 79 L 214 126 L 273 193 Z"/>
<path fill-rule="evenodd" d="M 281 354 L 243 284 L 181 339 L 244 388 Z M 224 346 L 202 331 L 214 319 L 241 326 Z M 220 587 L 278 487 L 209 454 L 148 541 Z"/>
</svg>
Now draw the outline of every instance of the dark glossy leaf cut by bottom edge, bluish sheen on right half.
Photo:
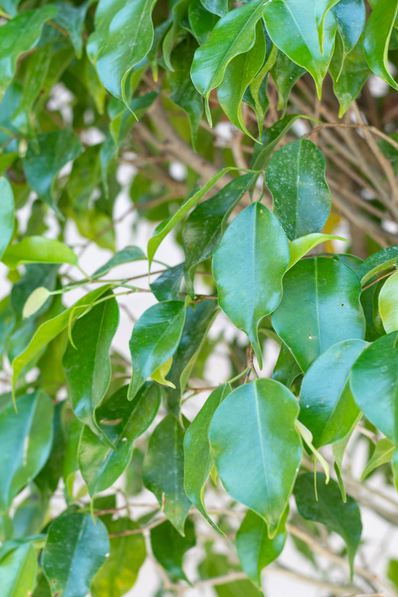
<svg viewBox="0 0 398 597">
<path fill-rule="evenodd" d="M 66 514 L 48 529 L 42 568 L 56 597 L 85 597 L 109 553 L 106 527 L 90 514 Z"/>
</svg>

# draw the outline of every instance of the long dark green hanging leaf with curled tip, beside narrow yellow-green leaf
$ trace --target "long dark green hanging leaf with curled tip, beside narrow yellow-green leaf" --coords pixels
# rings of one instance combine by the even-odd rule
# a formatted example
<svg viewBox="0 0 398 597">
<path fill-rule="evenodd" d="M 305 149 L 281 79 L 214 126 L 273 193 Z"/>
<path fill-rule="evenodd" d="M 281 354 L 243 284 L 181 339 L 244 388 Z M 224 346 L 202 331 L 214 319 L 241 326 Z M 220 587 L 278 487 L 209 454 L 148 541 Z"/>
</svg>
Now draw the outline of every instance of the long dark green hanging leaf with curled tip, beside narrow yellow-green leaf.
<svg viewBox="0 0 398 597">
<path fill-rule="evenodd" d="M 106 298 L 76 321 L 72 330 L 74 346 L 69 341 L 63 358 L 73 412 L 104 439 L 107 436 L 98 425 L 95 408 L 109 386 L 109 350 L 119 324 L 116 298 Z"/>
</svg>

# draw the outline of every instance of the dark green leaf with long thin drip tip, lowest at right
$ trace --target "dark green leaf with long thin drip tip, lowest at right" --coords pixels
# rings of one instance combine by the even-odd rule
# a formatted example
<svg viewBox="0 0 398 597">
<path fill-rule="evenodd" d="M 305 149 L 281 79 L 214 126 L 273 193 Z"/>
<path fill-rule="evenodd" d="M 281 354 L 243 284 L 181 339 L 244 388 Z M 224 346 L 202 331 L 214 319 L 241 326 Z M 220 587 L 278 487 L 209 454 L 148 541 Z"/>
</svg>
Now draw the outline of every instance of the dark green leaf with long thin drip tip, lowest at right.
<svg viewBox="0 0 398 597">
<path fill-rule="evenodd" d="M 350 496 L 347 496 L 347 502 L 343 503 L 338 484 L 333 479 L 328 485 L 325 485 L 324 481 L 325 475 L 318 473 L 316 500 L 313 473 L 305 473 L 297 478 L 294 487 L 297 509 L 303 518 L 321 522 L 329 530 L 343 537 L 347 544 L 352 580 L 354 556 L 362 533 L 359 507 Z"/>
</svg>

